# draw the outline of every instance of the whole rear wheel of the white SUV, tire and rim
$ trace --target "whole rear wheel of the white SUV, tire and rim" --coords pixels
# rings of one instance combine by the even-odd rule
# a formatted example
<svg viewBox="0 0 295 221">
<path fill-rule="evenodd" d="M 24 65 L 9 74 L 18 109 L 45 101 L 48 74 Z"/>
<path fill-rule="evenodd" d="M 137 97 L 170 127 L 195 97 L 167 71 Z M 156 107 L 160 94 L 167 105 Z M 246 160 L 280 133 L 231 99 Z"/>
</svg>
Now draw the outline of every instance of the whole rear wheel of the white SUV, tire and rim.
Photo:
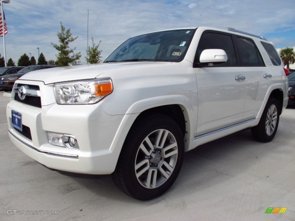
<svg viewBox="0 0 295 221">
<path fill-rule="evenodd" d="M 269 142 L 276 135 L 279 115 L 279 103 L 275 98 L 270 98 L 262 113 L 257 126 L 251 128 L 253 138 L 261 142 Z"/>
</svg>

